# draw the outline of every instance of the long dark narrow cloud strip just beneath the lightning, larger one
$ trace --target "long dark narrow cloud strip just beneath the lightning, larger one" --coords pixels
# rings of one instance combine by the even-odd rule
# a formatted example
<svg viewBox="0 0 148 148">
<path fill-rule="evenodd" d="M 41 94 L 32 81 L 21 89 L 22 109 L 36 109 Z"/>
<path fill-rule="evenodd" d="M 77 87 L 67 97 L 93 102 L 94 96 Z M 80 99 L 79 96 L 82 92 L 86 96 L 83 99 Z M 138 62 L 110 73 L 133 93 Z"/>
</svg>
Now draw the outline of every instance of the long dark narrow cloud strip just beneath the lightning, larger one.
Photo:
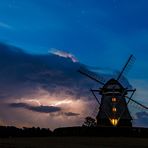
<svg viewBox="0 0 148 148">
<path fill-rule="evenodd" d="M 40 113 L 53 113 L 61 111 L 60 107 L 55 106 L 31 106 L 26 103 L 11 103 L 11 107 L 13 108 L 25 108 L 31 111 L 40 112 Z"/>
</svg>

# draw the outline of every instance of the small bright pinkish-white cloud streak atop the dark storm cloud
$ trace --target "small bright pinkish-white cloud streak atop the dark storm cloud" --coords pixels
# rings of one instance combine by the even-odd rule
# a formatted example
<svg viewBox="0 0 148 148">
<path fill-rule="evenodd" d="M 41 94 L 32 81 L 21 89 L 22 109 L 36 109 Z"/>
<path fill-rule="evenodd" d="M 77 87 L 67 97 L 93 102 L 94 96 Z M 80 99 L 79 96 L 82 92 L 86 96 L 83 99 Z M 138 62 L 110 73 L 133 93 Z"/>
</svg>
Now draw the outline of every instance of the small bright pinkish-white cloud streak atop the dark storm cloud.
<svg viewBox="0 0 148 148">
<path fill-rule="evenodd" d="M 64 58 L 69 58 L 71 59 L 73 62 L 78 62 L 78 59 L 71 53 L 59 50 L 59 49 L 55 49 L 52 48 L 49 53 L 52 53 L 54 55 L 60 56 L 60 57 L 64 57 Z"/>
</svg>

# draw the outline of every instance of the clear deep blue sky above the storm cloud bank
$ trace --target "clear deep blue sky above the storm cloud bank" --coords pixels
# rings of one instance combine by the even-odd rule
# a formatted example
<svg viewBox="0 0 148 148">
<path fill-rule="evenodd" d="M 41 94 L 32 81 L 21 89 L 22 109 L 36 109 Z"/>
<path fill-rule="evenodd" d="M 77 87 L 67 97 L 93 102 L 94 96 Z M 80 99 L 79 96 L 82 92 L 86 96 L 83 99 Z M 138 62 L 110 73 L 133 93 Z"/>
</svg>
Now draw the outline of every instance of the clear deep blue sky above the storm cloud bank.
<svg viewBox="0 0 148 148">
<path fill-rule="evenodd" d="M 0 41 L 33 54 L 62 50 L 83 64 L 111 70 L 120 70 L 134 54 L 128 76 L 139 90 L 136 97 L 146 102 L 147 6 L 147 0 L 3 0 Z"/>
</svg>

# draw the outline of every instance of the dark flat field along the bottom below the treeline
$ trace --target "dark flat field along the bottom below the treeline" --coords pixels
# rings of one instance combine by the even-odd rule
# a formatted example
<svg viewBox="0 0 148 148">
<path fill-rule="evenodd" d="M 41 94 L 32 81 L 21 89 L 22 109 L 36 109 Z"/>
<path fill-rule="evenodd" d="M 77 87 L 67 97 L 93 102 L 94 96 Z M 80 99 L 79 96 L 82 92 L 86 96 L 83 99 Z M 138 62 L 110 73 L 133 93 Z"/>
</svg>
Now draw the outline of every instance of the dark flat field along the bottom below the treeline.
<svg viewBox="0 0 148 148">
<path fill-rule="evenodd" d="M 148 139 L 49 137 L 0 139 L 0 148 L 148 148 Z"/>
</svg>

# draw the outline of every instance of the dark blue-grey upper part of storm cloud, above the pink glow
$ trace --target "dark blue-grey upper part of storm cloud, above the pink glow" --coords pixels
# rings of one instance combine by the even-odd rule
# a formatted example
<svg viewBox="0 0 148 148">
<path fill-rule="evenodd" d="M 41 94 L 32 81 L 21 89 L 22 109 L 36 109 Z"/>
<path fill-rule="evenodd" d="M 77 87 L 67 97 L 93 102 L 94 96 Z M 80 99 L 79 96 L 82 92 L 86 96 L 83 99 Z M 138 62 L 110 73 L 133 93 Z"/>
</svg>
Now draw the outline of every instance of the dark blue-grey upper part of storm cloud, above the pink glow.
<svg viewBox="0 0 148 148">
<path fill-rule="evenodd" d="M 81 64 L 71 59 L 53 54 L 30 55 L 5 44 L 0 44 L 0 59 L 0 99 L 32 95 L 39 88 L 50 93 L 64 89 L 78 99 L 80 92 L 93 85 L 83 81 L 85 78 L 77 72 Z"/>
</svg>

